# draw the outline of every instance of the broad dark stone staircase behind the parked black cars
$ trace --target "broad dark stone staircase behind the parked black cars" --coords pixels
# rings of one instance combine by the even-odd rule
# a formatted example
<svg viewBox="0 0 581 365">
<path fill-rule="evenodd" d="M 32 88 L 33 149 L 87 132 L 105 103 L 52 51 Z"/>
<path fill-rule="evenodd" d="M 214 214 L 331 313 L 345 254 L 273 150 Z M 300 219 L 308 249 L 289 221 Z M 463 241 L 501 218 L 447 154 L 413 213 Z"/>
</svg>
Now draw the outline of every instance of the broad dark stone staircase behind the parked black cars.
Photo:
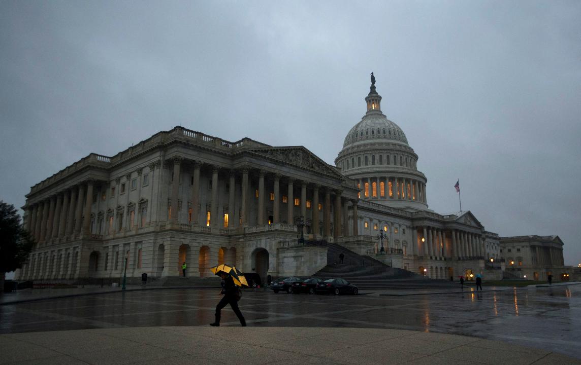
<svg viewBox="0 0 581 365">
<path fill-rule="evenodd" d="M 342 264 L 339 263 L 341 253 L 345 255 Z M 338 244 L 329 245 L 327 266 L 312 277 L 345 279 L 360 290 L 458 288 L 460 285 L 454 281 L 430 279 L 407 270 L 390 268 L 370 256 L 358 255 Z"/>
</svg>

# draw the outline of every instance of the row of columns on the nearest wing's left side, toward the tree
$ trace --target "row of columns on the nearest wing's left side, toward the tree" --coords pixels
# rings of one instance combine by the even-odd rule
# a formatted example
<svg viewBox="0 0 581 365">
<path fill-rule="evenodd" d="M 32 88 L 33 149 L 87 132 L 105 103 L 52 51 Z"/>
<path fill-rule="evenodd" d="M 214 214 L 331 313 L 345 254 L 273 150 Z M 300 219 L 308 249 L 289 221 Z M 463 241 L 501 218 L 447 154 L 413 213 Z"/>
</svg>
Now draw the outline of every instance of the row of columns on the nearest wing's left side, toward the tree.
<svg viewBox="0 0 581 365">
<path fill-rule="evenodd" d="M 27 207 L 27 228 L 34 240 L 42 242 L 90 233 L 93 186 L 94 181 L 87 180 Z"/>
</svg>

